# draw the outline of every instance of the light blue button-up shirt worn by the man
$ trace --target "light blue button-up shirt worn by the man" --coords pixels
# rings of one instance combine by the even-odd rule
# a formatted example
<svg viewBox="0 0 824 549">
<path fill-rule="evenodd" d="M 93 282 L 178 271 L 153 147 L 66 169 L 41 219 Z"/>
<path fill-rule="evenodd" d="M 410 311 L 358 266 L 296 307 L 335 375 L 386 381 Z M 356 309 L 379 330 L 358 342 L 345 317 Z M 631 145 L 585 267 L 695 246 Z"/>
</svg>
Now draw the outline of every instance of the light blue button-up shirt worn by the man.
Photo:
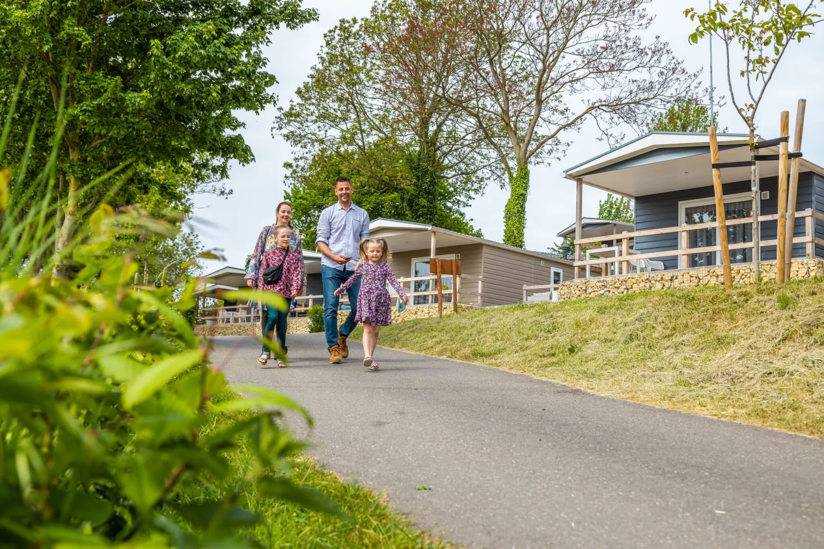
<svg viewBox="0 0 824 549">
<path fill-rule="evenodd" d="M 317 238 L 315 243 L 325 242 L 335 256 L 350 256 L 346 265 L 338 265 L 326 256 L 321 257 L 321 265 L 332 269 L 354 270 L 358 263 L 360 252 L 358 244 L 363 238 L 369 237 L 369 214 L 366 210 L 351 204 L 345 209 L 339 202 L 321 212 L 317 220 Z"/>
</svg>

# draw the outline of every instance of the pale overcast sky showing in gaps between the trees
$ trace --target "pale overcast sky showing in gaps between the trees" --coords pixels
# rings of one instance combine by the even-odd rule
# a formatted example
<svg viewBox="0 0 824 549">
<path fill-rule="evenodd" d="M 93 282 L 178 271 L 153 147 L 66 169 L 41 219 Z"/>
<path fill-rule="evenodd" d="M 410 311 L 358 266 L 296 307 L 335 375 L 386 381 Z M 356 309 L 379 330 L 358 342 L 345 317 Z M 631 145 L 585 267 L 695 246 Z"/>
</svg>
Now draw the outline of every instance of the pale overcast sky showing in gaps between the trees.
<svg viewBox="0 0 824 549">
<path fill-rule="evenodd" d="M 734 0 L 733 0 L 734 1 Z M 701 79 L 709 83 L 709 45 L 706 40 L 698 45 L 687 43 L 687 36 L 695 29 L 683 16 L 688 7 L 705 7 L 706 0 L 653 0 L 649 12 L 656 15 L 651 35 L 661 35 L 667 40 L 678 57 L 684 59 L 691 71 L 705 68 Z M 736 2 L 737 3 L 737 2 Z M 806 2 L 805 2 L 806 3 Z M 368 16 L 371 0 L 305 0 L 304 6 L 316 7 L 320 20 L 299 30 L 278 30 L 272 36 L 272 45 L 266 50 L 269 70 L 278 77 L 275 92 L 279 104 L 288 105 L 294 92 L 307 77 L 311 65 L 316 62 L 316 54 L 323 45 L 323 33 L 335 26 L 341 18 Z M 804 156 L 812 162 L 824 165 L 824 137 L 820 129 L 824 127 L 824 24 L 818 30 L 821 35 L 813 35 L 801 45 L 790 45 L 788 53 L 781 61 L 774 79 L 770 82 L 765 100 L 756 117 L 759 134 L 774 137 L 778 135 L 780 110 L 790 111 L 790 129 L 794 127 L 794 116 L 798 98 L 805 98 L 807 114 L 803 142 Z M 717 93 L 728 96 L 723 73 L 723 54 L 718 40 L 715 40 L 715 87 Z M 728 102 L 729 103 L 729 102 Z M 272 138 L 271 126 L 276 109 L 269 108 L 260 115 L 241 113 L 246 122 L 242 130 L 246 143 L 255 153 L 256 161 L 249 166 L 233 166 L 227 186 L 234 190 L 228 199 L 213 196 L 199 196 L 195 200 L 197 218 L 206 223 L 199 224 L 201 242 L 207 248 L 224 250 L 228 265 L 242 267 L 246 255 L 255 245 L 255 237 L 265 224 L 274 220 L 274 206 L 283 199 L 283 162 L 292 159 L 287 143 L 281 138 Z M 747 133 L 746 124 L 728 104 L 721 110 L 719 126 L 727 126 L 730 132 Z M 634 138 L 628 134 L 627 139 Z M 579 134 L 565 138 L 572 141 L 566 157 L 549 166 L 531 169 L 531 189 L 527 203 L 527 248 L 545 251 L 558 242 L 555 234 L 570 223 L 574 223 L 575 185 L 573 181 L 560 176 L 564 169 L 573 167 L 601 152 L 605 152 L 606 142 L 597 140 L 597 132 L 588 124 Z M 711 185 L 709 172 L 707 185 Z M 583 214 L 595 216 L 598 200 L 605 195 L 600 190 L 584 186 Z M 476 228 L 484 232 L 484 237 L 500 241 L 503 238 L 503 204 L 508 191 L 502 190 L 497 181 L 489 181 L 485 194 L 475 199 L 467 209 Z M 312 248 L 313 244 L 304 242 Z M 219 268 L 216 262 L 206 265 L 206 272 Z"/>
</svg>

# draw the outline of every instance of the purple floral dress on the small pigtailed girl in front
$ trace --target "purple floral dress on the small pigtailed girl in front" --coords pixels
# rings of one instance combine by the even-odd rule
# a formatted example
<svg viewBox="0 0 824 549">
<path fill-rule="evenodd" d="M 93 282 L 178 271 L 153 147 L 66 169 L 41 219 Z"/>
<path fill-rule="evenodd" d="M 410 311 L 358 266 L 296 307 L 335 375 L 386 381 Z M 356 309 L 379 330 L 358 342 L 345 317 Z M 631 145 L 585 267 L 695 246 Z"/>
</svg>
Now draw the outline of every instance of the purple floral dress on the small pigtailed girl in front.
<svg viewBox="0 0 824 549">
<path fill-rule="evenodd" d="M 374 265 L 368 261 L 361 261 L 354 275 L 341 284 L 341 293 L 357 282 L 358 278 L 361 279 L 361 289 L 358 292 L 358 312 L 355 321 L 363 322 L 368 318 L 372 326 L 389 326 L 392 323 L 392 298 L 386 289 L 386 282 L 392 284 L 392 288 L 401 299 L 406 297 L 403 286 L 395 278 L 395 273 L 383 261 Z"/>
</svg>

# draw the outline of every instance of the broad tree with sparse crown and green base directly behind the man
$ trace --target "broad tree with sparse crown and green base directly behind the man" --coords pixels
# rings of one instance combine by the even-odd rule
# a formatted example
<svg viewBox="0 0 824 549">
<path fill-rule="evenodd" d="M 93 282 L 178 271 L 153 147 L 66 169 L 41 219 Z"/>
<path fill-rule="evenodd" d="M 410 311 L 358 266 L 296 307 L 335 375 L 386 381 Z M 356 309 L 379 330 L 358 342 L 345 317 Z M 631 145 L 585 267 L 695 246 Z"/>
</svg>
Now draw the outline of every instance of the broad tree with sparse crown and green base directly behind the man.
<svg viewBox="0 0 824 549">
<path fill-rule="evenodd" d="M 340 171 L 362 189 L 393 196 L 390 209 L 400 219 L 474 231 L 459 208 L 485 185 L 483 147 L 461 112 L 437 94 L 453 64 L 424 40 L 449 24 L 439 15 L 424 2 L 390 0 L 326 33 L 297 101 L 273 128 L 295 150 L 293 199 L 334 181 L 294 186 L 297 179 Z"/>
</svg>

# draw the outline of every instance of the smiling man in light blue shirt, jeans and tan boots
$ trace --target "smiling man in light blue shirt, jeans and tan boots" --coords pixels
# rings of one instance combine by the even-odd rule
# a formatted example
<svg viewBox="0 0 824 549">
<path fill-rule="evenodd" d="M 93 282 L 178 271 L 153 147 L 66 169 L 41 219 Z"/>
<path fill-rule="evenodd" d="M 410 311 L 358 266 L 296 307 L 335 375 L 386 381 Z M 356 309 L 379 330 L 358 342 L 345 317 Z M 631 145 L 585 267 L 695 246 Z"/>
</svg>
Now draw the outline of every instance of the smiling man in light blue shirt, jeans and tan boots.
<svg viewBox="0 0 824 549">
<path fill-rule="evenodd" d="M 326 347 L 330 364 L 340 364 L 349 356 L 346 338 L 355 329 L 355 314 L 358 309 L 360 280 L 347 290 L 349 317 L 338 331 L 338 304 L 340 298 L 335 290 L 353 275 L 358 263 L 358 243 L 369 237 L 369 214 L 363 208 L 352 204 L 352 184 L 346 177 L 335 181 L 335 195 L 338 201 L 321 212 L 317 221 L 317 250 L 321 258 L 321 279 L 323 280 L 323 327 L 326 332 Z"/>
</svg>

